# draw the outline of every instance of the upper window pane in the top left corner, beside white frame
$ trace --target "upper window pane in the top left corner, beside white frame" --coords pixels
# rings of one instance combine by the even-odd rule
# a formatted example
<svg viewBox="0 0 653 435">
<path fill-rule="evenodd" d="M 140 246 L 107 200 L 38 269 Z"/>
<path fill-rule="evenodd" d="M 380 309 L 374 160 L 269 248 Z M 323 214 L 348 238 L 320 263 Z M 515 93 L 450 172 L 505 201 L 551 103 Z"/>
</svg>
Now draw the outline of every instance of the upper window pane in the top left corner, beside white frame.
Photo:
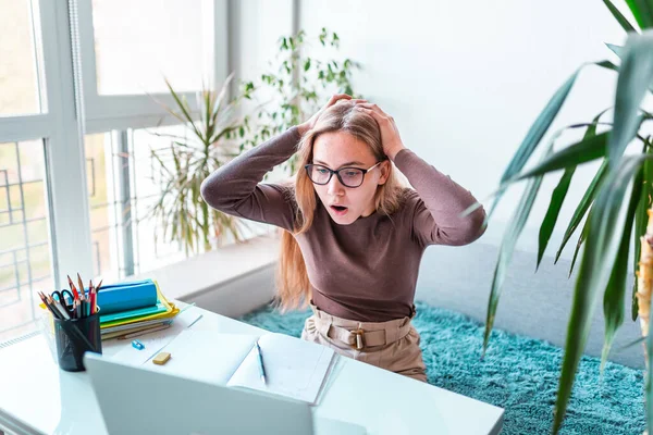
<svg viewBox="0 0 653 435">
<path fill-rule="evenodd" d="M 0 0 L 0 116 L 40 112 L 29 0 Z"/>
</svg>

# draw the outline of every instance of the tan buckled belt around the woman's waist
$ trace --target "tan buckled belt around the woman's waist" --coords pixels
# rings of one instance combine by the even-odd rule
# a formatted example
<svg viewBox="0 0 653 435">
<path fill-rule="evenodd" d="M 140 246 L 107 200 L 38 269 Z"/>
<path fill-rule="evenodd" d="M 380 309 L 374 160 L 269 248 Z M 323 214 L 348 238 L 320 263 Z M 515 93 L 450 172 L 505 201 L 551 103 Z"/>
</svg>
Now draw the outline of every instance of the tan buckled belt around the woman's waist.
<svg viewBox="0 0 653 435">
<path fill-rule="evenodd" d="M 347 330 L 342 326 L 334 325 L 329 320 L 320 319 L 319 315 L 315 315 L 313 320 L 316 328 L 321 335 L 347 344 L 356 350 L 362 350 L 366 347 L 382 346 L 394 343 L 408 335 L 411 327 L 410 322 L 406 322 L 405 325 L 392 327 L 391 331 L 365 331 L 362 327 Z"/>
</svg>

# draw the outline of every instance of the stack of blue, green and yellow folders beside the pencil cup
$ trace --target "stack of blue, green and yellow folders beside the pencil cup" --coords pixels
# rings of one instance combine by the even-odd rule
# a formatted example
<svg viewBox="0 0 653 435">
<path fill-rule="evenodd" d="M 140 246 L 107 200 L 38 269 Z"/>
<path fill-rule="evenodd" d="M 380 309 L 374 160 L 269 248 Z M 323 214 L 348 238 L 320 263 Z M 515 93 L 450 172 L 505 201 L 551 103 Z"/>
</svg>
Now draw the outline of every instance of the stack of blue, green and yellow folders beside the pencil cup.
<svg viewBox="0 0 653 435">
<path fill-rule="evenodd" d="M 152 279 L 103 286 L 98 293 L 98 306 L 102 339 L 161 328 L 180 312 Z"/>
</svg>

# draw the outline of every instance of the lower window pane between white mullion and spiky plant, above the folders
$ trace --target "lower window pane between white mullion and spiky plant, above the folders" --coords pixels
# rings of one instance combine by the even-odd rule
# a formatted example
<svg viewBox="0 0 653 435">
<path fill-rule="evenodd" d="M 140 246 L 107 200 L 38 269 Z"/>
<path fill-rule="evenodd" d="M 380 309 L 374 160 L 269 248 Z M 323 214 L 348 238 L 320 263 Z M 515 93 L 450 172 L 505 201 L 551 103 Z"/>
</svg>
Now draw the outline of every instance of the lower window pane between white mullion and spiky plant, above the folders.
<svg viewBox="0 0 653 435">
<path fill-rule="evenodd" d="M 139 140 L 134 147 L 122 132 L 85 138 L 94 269 L 102 279 L 123 278 L 186 258 L 178 244 L 160 235 L 161 225 L 148 217 L 161 192 L 149 146 L 165 141 L 143 132 L 159 140 Z M 156 132 L 174 134 L 180 129 Z"/>
</svg>

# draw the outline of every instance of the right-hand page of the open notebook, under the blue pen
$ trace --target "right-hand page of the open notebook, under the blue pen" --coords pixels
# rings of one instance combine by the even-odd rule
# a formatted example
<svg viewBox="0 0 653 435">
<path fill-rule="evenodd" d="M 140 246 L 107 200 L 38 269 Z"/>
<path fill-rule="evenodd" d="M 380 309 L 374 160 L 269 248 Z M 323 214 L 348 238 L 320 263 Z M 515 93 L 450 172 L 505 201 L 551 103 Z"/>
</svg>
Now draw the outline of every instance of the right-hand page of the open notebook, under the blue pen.
<svg viewBox="0 0 653 435">
<path fill-rule="evenodd" d="M 332 349 L 283 334 L 259 339 L 267 384 L 260 378 L 258 357 L 251 349 L 226 385 L 316 403 L 334 357 Z"/>
</svg>

